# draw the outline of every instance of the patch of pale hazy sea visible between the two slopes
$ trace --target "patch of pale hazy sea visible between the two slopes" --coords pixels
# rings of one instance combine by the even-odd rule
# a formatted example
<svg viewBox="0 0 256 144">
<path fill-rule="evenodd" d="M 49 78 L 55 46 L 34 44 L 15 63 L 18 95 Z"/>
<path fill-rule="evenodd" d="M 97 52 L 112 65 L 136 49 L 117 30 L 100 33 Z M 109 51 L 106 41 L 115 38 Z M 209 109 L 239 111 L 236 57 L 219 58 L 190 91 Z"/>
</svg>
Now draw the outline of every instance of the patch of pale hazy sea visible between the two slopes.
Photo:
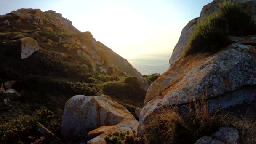
<svg viewBox="0 0 256 144">
<path fill-rule="evenodd" d="M 163 74 L 169 68 L 169 59 L 171 55 L 165 54 L 141 54 L 127 57 L 126 59 L 142 75 L 151 75 L 154 73 Z"/>
</svg>

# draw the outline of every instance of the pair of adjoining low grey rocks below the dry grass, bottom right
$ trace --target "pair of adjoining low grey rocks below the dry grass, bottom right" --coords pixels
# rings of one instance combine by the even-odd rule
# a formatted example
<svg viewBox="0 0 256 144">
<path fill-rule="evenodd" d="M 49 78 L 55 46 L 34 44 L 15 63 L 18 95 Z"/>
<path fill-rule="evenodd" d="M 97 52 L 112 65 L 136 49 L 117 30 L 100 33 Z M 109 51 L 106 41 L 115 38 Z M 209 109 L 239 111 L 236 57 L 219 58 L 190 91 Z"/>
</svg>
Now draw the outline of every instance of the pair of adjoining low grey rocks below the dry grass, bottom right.
<svg viewBox="0 0 256 144">
<path fill-rule="evenodd" d="M 235 128 L 222 127 L 212 136 L 203 136 L 194 144 L 238 144 L 239 132 Z"/>
</svg>

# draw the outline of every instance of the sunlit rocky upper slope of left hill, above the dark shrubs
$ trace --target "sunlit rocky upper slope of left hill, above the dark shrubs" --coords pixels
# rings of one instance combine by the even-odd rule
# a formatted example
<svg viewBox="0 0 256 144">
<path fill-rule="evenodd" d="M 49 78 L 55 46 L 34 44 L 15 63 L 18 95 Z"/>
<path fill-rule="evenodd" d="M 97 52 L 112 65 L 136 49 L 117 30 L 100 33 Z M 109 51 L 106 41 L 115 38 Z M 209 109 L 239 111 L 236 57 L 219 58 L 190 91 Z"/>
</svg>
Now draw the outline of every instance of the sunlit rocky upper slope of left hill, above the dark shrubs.
<svg viewBox="0 0 256 144">
<path fill-rule="evenodd" d="M 48 47 L 51 55 L 61 59 L 65 59 L 70 54 L 76 54 L 85 59 L 81 61 L 83 67 L 94 71 L 141 76 L 126 59 L 96 41 L 90 32 L 77 30 L 71 21 L 55 11 L 19 9 L 0 16 L 0 25 L 1 40 L 10 40 L 12 36 L 17 37 L 21 34 L 17 38 L 13 37 L 12 40 L 24 36 L 32 37 L 37 40 L 40 49 Z M 21 53 L 22 58 L 27 57 L 23 57 Z"/>
</svg>

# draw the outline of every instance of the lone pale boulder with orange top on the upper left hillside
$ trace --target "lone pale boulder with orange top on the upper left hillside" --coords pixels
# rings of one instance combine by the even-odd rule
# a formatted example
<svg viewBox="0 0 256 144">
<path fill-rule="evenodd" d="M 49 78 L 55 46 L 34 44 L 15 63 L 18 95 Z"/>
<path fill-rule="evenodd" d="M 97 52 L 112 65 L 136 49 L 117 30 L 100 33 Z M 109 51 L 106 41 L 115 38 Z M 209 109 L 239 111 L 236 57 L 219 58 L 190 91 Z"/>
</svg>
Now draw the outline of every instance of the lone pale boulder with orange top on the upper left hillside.
<svg viewBox="0 0 256 144">
<path fill-rule="evenodd" d="M 36 40 L 31 37 L 20 39 L 21 41 L 21 59 L 26 59 L 35 51 L 39 50 L 39 45 Z"/>
</svg>

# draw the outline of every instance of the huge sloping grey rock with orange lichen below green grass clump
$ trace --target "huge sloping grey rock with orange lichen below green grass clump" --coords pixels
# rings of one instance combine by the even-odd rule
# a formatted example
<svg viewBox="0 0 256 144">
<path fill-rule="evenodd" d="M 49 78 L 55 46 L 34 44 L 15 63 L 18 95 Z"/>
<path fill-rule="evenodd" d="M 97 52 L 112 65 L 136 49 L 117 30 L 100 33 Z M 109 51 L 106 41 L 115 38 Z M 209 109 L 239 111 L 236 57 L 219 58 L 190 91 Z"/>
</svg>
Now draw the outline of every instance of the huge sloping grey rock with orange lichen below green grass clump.
<svg viewBox="0 0 256 144">
<path fill-rule="evenodd" d="M 149 87 L 139 128 L 158 108 L 186 104 L 205 93 L 211 110 L 250 104 L 256 100 L 256 88 L 239 90 L 245 85 L 256 85 L 256 50 L 253 46 L 234 43 L 213 55 L 187 56 L 176 61 Z"/>
</svg>

